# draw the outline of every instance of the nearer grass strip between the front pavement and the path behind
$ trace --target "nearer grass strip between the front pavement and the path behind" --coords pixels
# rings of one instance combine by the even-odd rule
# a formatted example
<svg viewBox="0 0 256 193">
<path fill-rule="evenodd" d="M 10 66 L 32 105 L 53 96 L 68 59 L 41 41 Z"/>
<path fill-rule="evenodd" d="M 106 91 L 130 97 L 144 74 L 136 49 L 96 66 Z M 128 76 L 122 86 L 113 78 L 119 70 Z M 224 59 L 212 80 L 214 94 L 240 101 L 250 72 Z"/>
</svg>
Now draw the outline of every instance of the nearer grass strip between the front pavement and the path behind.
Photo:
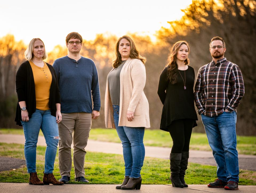
<svg viewBox="0 0 256 193">
<path fill-rule="evenodd" d="M 21 144 L 0 143 L 0 156 L 24 158 L 24 146 Z M 45 147 L 37 147 L 37 173 L 42 180 Z M 146 157 L 141 170 L 143 184 L 171 184 L 169 160 Z M 87 152 L 85 156 L 85 174 L 91 184 L 121 184 L 124 176 L 122 155 Z M 60 178 L 58 154 L 55 159 L 54 175 Z M 256 171 L 240 170 L 239 185 L 256 185 Z M 207 184 L 216 179 L 216 167 L 189 163 L 185 180 L 188 184 Z M 28 183 L 26 166 L 16 170 L 1 171 L 0 182 Z M 74 168 L 71 170 L 70 183 L 74 181 Z"/>
</svg>

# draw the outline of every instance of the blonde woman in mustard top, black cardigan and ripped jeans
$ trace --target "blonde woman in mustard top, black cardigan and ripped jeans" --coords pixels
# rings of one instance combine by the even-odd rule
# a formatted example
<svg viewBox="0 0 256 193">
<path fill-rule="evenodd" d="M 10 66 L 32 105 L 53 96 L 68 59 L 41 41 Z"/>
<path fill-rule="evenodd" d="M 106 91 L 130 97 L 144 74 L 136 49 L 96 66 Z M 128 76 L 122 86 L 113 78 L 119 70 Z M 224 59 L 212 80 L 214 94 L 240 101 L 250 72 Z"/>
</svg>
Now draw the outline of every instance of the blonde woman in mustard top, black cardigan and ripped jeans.
<svg viewBox="0 0 256 193">
<path fill-rule="evenodd" d="M 47 57 L 45 45 L 39 38 L 30 41 L 25 51 L 27 61 L 16 74 L 18 104 L 15 121 L 23 127 L 24 153 L 29 184 L 62 185 L 53 175 L 54 161 L 59 142 L 58 125 L 61 121 L 61 98 L 53 67 L 43 60 Z M 36 151 L 40 128 L 46 141 L 43 182 L 37 177 Z"/>
</svg>

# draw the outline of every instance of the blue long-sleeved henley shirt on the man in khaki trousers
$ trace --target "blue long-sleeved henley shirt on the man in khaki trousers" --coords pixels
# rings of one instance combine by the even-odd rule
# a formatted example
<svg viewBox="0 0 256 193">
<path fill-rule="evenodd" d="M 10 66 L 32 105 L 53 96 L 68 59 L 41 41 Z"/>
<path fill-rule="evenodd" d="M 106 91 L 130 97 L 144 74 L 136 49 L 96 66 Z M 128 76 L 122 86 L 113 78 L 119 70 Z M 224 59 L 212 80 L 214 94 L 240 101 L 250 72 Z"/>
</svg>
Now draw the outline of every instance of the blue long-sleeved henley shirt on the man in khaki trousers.
<svg viewBox="0 0 256 193">
<path fill-rule="evenodd" d="M 101 109 L 98 71 L 93 60 L 78 61 L 64 56 L 53 63 L 61 94 L 61 112 L 86 112 Z M 93 99 L 93 104 L 92 104 Z"/>
</svg>

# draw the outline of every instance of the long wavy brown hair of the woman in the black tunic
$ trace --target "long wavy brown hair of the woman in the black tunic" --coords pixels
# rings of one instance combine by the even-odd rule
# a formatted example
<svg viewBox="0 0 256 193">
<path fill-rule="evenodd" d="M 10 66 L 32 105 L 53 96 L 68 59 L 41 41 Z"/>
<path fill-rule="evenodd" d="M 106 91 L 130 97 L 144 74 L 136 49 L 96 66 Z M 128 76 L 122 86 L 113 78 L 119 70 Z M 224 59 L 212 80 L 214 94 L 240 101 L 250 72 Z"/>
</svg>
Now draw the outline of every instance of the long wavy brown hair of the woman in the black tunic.
<svg viewBox="0 0 256 193">
<path fill-rule="evenodd" d="M 189 43 L 187 43 L 185 40 L 177 41 L 173 44 L 173 46 L 170 49 L 170 54 L 167 59 L 167 64 L 165 67 L 167 67 L 167 79 L 170 81 L 171 84 L 175 84 L 177 82 L 177 72 L 178 72 L 178 65 L 176 63 L 177 60 L 177 53 L 179 51 L 179 48 L 182 44 L 185 44 L 188 48 L 188 53 L 190 51 L 189 49 Z M 189 58 L 184 61 L 185 65 L 189 65 Z"/>
</svg>

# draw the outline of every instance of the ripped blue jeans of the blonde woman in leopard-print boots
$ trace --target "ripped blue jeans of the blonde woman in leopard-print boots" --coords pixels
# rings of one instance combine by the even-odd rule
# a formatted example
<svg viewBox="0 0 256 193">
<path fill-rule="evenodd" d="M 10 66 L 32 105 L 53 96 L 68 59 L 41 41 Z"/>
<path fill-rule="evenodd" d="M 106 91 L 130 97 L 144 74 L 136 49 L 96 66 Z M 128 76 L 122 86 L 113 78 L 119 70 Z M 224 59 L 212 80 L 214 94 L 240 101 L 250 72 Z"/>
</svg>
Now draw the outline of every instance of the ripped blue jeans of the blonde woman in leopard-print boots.
<svg viewBox="0 0 256 193">
<path fill-rule="evenodd" d="M 45 174 L 53 173 L 54 161 L 59 142 L 59 130 L 56 118 L 50 110 L 36 109 L 29 121 L 21 121 L 25 135 L 24 153 L 26 158 L 27 172 L 36 172 L 37 140 L 40 128 L 46 141 L 45 151 Z"/>
</svg>

